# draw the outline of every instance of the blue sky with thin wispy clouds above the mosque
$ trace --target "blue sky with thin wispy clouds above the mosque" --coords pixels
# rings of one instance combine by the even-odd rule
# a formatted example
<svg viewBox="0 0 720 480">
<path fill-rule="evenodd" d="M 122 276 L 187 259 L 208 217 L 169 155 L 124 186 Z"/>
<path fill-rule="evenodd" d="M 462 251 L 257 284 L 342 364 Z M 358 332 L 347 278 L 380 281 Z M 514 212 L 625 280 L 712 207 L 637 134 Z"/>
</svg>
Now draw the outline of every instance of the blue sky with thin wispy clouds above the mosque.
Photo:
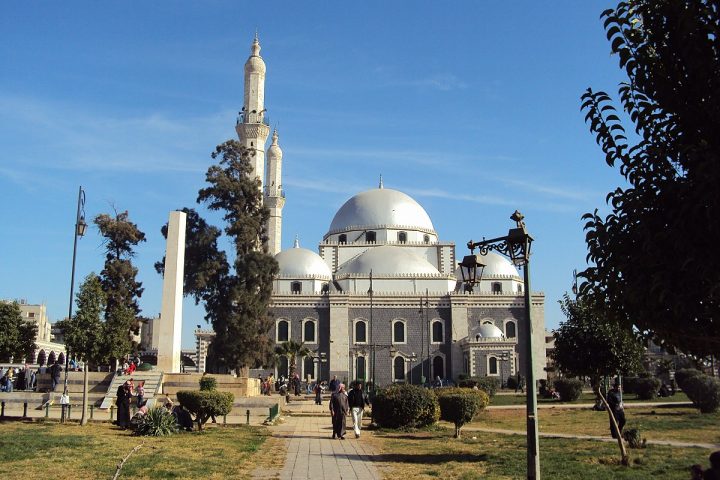
<svg viewBox="0 0 720 480">
<path fill-rule="evenodd" d="M 585 265 L 580 217 L 620 183 L 579 97 L 622 80 L 599 15 L 612 2 L 4 2 L 0 7 L 0 298 L 67 314 L 77 189 L 86 215 L 128 210 L 147 235 L 143 313 L 160 310 L 160 227 L 194 206 L 235 136 L 256 28 L 284 151 L 283 248 L 315 250 L 335 211 L 377 186 L 413 196 L 440 238 L 536 239 L 546 324 Z M 210 218 L 216 216 L 210 215 Z M 96 229 L 77 276 L 99 272 Z M 183 345 L 203 312 L 188 302 Z"/>
</svg>

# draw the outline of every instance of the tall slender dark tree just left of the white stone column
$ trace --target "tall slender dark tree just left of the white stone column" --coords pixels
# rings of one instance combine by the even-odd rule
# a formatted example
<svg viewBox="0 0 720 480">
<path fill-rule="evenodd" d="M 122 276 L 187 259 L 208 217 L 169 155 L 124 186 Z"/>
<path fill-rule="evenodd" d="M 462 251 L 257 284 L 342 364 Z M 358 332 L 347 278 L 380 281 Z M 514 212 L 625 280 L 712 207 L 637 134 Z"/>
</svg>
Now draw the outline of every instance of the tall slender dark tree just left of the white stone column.
<svg viewBox="0 0 720 480">
<path fill-rule="evenodd" d="M 106 248 L 105 268 L 100 274 L 106 294 L 103 348 L 108 358 L 119 360 L 135 347 L 131 334 L 137 335 L 140 331 L 137 299 L 143 288 L 135 279 L 138 271 L 131 259 L 135 255 L 133 247 L 145 241 L 145 234 L 129 220 L 127 211 L 114 217 L 101 214 L 94 222 L 105 237 Z"/>
</svg>

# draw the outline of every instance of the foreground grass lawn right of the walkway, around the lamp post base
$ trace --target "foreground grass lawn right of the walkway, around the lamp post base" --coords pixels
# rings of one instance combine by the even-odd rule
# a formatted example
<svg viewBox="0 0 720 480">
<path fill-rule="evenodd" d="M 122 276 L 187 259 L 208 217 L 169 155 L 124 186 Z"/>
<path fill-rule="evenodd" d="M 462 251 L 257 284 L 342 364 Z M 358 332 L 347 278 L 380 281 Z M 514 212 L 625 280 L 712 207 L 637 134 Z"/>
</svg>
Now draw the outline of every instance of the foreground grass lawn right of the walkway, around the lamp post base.
<svg viewBox="0 0 720 480">
<path fill-rule="evenodd" d="M 381 451 L 386 478 L 499 480 L 525 476 L 526 444 L 518 435 L 468 432 L 465 438 L 456 440 L 450 430 L 380 431 L 373 442 Z M 553 480 L 685 480 L 690 478 L 690 465 L 707 464 L 709 453 L 698 448 L 651 445 L 630 450 L 631 465 L 624 467 L 619 463 L 617 444 L 540 439 L 541 474 Z"/>
</svg>

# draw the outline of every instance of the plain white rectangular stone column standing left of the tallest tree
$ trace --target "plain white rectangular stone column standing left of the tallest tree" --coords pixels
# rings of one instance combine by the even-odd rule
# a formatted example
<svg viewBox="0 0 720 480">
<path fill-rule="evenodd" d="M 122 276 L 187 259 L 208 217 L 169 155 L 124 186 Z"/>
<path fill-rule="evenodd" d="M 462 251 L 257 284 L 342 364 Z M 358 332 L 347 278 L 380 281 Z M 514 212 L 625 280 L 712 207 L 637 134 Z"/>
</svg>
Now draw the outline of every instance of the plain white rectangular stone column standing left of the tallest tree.
<svg viewBox="0 0 720 480">
<path fill-rule="evenodd" d="M 165 373 L 180 373 L 186 218 L 184 212 L 170 212 L 168 221 L 162 310 L 157 321 L 157 368 Z"/>
</svg>

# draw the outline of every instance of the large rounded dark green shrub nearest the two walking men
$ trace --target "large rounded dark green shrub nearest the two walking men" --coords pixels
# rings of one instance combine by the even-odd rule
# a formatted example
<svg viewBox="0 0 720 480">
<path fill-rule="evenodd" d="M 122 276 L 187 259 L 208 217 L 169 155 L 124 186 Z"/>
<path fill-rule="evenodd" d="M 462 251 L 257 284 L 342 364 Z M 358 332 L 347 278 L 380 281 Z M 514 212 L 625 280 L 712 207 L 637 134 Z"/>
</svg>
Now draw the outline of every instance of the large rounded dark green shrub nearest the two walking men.
<svg viewBox="0 0 720 480">
<path fill-rule="evenodd" d="M 373 419 L 386 428 L 425 427 L 440 418 L 432 390 L 407 384 L 378 390 L 372 411 Z"/>
</svg>

